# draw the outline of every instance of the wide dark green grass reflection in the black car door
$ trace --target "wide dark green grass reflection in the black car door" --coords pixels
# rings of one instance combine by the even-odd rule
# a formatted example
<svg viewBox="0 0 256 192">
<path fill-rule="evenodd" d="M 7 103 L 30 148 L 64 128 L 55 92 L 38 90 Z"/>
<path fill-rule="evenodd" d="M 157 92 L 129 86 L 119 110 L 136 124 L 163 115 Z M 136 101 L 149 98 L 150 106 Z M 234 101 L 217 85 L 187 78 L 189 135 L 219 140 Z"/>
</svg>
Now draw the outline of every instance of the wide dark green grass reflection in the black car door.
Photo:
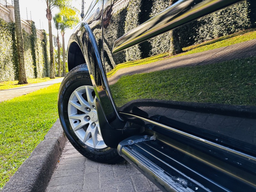
<svg viewBox="0 0 256 192">
<path fill-rule="evenodd" d="M 136 99 L 256 105 L 256 57 L 123 76 L 110 89 L 118 107 Z"/>
</svg>

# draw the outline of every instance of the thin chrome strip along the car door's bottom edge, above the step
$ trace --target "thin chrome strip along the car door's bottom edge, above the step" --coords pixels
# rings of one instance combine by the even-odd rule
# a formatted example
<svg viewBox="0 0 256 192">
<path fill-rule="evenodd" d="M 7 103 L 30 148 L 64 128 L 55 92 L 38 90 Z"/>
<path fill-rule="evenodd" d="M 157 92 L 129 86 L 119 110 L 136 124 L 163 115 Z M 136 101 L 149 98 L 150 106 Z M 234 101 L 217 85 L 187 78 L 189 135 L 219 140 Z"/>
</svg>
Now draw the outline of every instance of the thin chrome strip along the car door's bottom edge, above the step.
<svg viewBox="0 0 256 192">
<path fill-rule="evenodd" d="M 228 147 L 224 147 L 224 146 L 222 146 L 222 145 L 220 145 L 220 144 L 217 144 L 217 143 L 214 143 L 214 142 L 212 142 L 212 141 L 210 141 L 210 140 L 202 139 L 202 138 L 197 137 L 197 136 L 195 136 L 195 135 L 192 135 L 192 134 L 189 134 L 189 133 L 187 133 L 187 132 L 183 132 L 183 131 L 177 130 L 177 129 L 175 129 L 175 128 L 172 128 L 172 127 L 169 127 L 169 126 L 167 126 L 167 125 L 164 125 L 164 124 L 161 124 L 161 123 L 152 121 L 152 120 L 150 120 L 150 119 L 147 119 L 147 118 L 144 118 L 144 117 L 140 117 L 140 116 L 136 116 L 136 115 L 132 115 L 132 114 L 129 114 L 129 113 L 124 113 L 124 112 L 120 112 L 120 114 L 128 115 L 128 116 L 133 116 L 133 117 L 142 119 L 143 121 L 147 121 L 148 123 L 151 123 L 151 124 L 154 124 L 154 125 L 163 127 L 163 128 L 165 128 L 165 129 L 168 129 L 169 131 L 178 133 L 178 134 L 180 134 L 180 135 L 189 137 L 189 138 L 191 138 L 191 139 L 198 140 L 198 141 L 200 141 L 200 142 L 204 142 L 204 143 L 209 144 L 209 145 L 211 145 L 211 146 L 213 146 L 213 147 L 216 147 L 216 148 L 219 148 L 219 149 L 228 151 L 228 152 L 230 152 L 230 153 L 233 153 L 233 154 L 236 154 L 236 155 L 239 155 L 239 156 L 242 156 L 242 157 L 251 159 L 251 160 L 253 160 L 253 161 L 256 161 L 256 158 L 255 158 L 254 156 L 250 156 L 250 155 L 247 155 L 247 154 L 242 153 L 242 152 L 240 152 L 240 151 L 236 151 L 236 150 L 234 150 L 234 149 L 230 149 L 230 148 L 228 148 Z"/>
</svg>

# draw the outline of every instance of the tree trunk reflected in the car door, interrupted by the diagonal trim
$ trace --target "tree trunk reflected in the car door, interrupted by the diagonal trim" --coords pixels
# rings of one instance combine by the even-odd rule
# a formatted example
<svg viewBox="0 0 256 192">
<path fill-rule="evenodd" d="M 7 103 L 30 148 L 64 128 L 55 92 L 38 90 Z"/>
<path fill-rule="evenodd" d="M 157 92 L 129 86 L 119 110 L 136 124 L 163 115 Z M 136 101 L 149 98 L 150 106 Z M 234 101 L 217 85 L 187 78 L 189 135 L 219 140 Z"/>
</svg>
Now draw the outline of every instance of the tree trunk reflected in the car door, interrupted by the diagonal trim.
<svg viewBox="0 0 256 192">
<path fill-rule="evenodd" d="M 174 3 L 174 1 L 175 0 L 170 0 L 169 6 L 171 6 Z M 179 40 L 178 33 L 176 32 L 175 29 L 170 31 L 170 36 L 171 36 L 171 39 L 170 39 L 169 55 L 175 55 L 175 54 L 183 52 L 182 48 L 180 46 L 180 40 Z"/>
</svg>

